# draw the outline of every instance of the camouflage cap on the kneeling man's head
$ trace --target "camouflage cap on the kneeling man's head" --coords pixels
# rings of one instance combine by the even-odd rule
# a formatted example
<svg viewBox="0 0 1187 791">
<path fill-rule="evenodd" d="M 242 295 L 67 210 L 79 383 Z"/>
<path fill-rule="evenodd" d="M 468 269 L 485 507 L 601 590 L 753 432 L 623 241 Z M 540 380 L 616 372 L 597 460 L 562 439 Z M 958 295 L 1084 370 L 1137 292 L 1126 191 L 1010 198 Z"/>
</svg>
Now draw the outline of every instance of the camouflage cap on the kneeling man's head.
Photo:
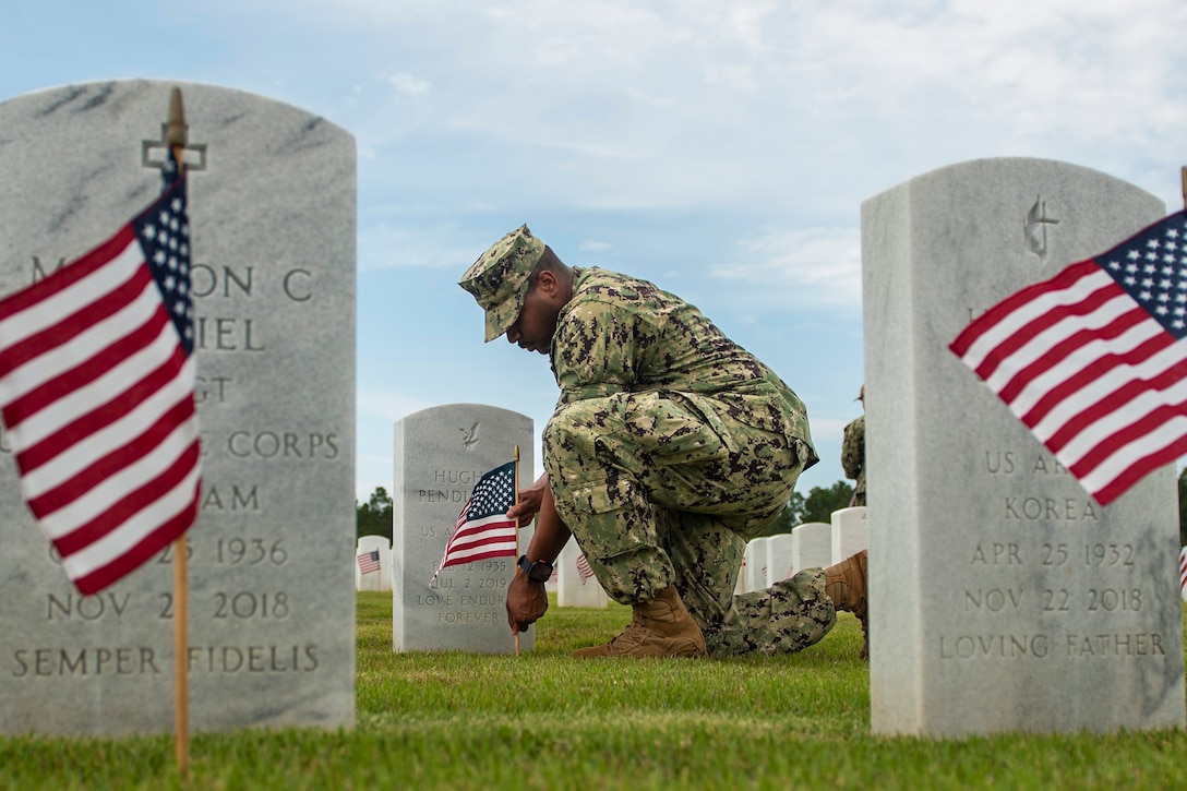
<svg viewBox="0 0 1187 791">
<path fill-rule="evenodd" d="M 528 277 L 541 255 L 544 242 L 527 226 L 520 226 L 491 245 L 462 276 L 458 285 L 487 311 L 487 342 L 506 333 L 519 318 Z"/>
</svg>

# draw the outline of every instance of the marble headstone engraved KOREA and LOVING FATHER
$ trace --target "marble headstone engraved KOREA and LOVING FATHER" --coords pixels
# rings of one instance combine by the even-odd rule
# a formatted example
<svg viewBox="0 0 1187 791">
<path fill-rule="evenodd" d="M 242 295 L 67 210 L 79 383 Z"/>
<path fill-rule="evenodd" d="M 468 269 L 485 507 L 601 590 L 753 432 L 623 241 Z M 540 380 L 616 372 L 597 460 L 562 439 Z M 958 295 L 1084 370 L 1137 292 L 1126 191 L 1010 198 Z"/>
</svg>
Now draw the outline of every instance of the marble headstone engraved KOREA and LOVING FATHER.
<svg viewBox="0 0 1187 791">
<path fill-rule="evenodd" d="M 1099 506 L 948 350 L 1162 216 L 1131 184 L 1023 158 L 863 204 L 875 733 L 1183 727 L 1174 470 Z"/>
</svg>

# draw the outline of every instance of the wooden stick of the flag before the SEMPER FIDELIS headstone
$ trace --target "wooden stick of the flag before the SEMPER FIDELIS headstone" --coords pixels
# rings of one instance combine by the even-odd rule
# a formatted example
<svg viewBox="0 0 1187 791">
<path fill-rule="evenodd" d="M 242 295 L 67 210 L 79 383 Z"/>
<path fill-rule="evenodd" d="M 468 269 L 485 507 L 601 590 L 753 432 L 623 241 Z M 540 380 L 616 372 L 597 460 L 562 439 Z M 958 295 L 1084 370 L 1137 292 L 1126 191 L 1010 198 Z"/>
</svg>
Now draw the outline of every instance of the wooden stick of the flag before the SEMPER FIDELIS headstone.
<svg viewBox="0 0 1187 791">
<path fill-rule="evenodd" d="M 169 120 L 165 143 L 177 160 L 178 178 L 185 167 L 184 148 L 188 141 L 182 90 L 173 88 L 169 95 Z M 190 676 L 186 659 L 190 653 L 190 586 L 186 569 L 186 533 L 173 542 L 173 753 L 177 771 L 183 779 L 190 776 Z"/>
</svg>

